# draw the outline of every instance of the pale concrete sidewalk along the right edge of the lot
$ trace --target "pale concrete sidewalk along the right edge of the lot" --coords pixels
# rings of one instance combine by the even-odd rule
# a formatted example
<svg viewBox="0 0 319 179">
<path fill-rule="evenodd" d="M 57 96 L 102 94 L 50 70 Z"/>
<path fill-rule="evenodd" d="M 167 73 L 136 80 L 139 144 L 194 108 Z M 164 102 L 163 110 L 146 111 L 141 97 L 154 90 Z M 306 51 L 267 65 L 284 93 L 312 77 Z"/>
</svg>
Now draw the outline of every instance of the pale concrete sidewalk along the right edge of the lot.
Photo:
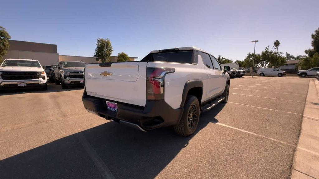
<svg viewBox="0 0 319 179">
<path fill-rule="evenodd" d="M 319 81 L 311 79 L 303 112 L 292 179 L 319 179 Z"/>
</svg>

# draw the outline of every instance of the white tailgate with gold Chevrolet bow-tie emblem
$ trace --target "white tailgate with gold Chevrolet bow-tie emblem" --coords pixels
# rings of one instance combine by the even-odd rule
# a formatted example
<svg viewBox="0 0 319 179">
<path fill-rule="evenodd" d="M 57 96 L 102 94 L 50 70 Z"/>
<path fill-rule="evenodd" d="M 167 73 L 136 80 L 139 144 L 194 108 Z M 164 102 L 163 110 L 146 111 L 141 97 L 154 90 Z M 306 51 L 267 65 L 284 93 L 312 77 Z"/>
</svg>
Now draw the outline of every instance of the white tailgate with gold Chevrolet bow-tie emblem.
<svg viewBox="0 0 319 179">
<path fill-rule="evenodd" d="M 87 64 L 85 89 L 89 96 L 145 106 L 147 62 Z"/>
</svg>

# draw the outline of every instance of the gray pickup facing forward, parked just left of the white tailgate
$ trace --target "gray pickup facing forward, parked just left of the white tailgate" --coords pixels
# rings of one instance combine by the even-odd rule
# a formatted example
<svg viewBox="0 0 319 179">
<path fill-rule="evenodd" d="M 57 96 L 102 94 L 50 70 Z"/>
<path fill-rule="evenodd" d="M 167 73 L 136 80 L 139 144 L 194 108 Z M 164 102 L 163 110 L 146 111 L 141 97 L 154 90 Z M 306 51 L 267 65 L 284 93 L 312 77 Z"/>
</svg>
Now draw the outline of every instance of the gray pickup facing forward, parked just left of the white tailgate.
<svg viewBox="0 0 319 179">
<path fill-rule="evenodd" d="M 56 85 L 61 84 L 62 89 L 67 89 L 71 85 L 84 86 L 85 65 L 82 61 L 60 61 L 54 69 Z"/>
</svg>

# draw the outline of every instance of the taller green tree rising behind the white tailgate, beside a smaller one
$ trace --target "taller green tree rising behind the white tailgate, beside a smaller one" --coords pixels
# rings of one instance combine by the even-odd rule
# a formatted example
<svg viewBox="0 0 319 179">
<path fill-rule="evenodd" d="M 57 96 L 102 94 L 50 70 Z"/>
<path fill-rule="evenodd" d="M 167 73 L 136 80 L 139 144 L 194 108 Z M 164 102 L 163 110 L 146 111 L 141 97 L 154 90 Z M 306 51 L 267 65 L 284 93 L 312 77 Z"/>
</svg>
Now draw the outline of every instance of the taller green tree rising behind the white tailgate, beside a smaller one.
<svg viewBox="0 0 319 179">
<path fill-rule="evenodd" d="M 99 38 L 96 40 L 96 46 L 97 47 L 93 55 L 93 57 L 95 57 L 95 60 L 101 60 L 102 62 L 108 61 L 113 52 L 113 47 L 111 45 L 110 39 Z"/>
</svg>

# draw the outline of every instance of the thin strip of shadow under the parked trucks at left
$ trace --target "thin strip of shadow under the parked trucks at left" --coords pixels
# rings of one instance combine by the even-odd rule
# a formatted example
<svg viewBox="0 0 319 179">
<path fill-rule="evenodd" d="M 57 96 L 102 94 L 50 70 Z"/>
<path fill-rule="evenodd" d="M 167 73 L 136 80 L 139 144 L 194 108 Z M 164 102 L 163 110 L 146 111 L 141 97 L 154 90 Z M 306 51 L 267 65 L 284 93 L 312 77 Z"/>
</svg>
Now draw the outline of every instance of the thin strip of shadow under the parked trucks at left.
<svg viewBox="0 0 319 179">
<path fill-rule="evenodd" d="M 0 90 L 0 96 L 24 94 L 24 93 L 51 93 L 51 92 L 71 91 L 71 90 L 78 90 L 78 89 L 84 89 L 84 87 L 83 86 L 71 86 L 68 89 L 62 89 L 61 85 L 56 85 L 54 83 L 48 83 L 48 90 L 45 90 L 45 91 L 42 91 L 41 89 L 37 89 L 37 88 L 6 89 L 6 90 Z"/>
</svg>

